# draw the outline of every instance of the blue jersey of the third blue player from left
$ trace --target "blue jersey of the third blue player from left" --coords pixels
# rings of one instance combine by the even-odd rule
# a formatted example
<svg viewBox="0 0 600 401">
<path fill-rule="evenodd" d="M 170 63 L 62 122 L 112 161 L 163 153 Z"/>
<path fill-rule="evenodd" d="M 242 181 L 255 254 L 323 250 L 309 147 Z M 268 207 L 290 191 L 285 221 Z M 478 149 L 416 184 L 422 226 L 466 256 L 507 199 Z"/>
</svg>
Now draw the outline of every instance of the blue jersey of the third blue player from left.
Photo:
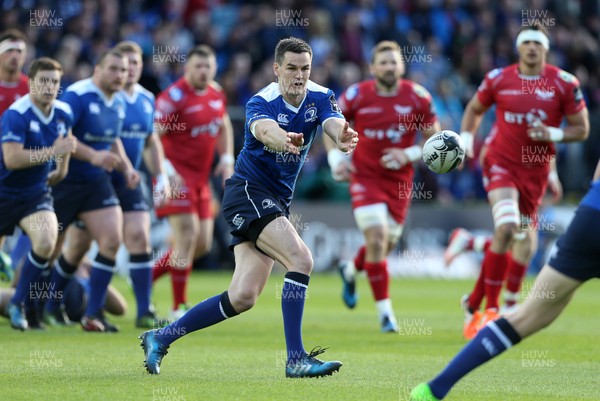
<svg viewBox="0 0 600 401">
<path fill-rule="evenodd" d="M 121 142 L 125 153 L 136 170 L 142 164 L 142 155 L 146 139 L 152 135 L 154 123 L 154 95 L 136 84 L 134 93 L 129 96 L 121 91 L 119 95 L 125 101 L 125 121 L 121 130 Z M 113 172 L 113 180 L 124 181 L 123 174 Z"/>
</svg>

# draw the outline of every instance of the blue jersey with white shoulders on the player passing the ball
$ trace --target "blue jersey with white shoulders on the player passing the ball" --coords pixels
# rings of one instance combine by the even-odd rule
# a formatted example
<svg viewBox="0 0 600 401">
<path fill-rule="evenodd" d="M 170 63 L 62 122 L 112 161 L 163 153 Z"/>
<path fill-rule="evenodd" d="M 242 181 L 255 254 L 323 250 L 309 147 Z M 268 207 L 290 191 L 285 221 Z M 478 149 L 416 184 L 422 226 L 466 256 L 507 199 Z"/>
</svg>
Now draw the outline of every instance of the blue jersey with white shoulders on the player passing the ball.
<svg viewBox="0 0 600 401">
<path fill-rule="evenodd" d="M 313 143 L 317 129 L 327 119 L 344 119 L 332 90 L 312 81 L 300 107 L 283 100 L 279 85 L 273 82 L 254 95 L 246 104 L 244 148 L 237 157 L 234 177 L 268 188 L 286 205 L 292 201 L 296 179 Z M 287 132 L 302 132 L 304 145 L 300 155 L 269 149 L 250 132 L 257 120 L 276 121 Z"/>
</svg>

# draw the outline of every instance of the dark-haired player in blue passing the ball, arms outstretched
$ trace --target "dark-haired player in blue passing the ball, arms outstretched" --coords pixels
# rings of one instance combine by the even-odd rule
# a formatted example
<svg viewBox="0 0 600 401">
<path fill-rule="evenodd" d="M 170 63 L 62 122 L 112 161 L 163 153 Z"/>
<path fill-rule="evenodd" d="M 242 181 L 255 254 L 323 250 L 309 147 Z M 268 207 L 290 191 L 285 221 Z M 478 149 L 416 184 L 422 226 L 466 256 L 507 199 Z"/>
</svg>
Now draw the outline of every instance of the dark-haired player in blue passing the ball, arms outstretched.
<svg viewBox="0 0 600 401">
<path fill-rule="evenodd" d="M 159 373 L 173 341 L 252 308 L 275 261 L 288 271 L 281 291 L 286 376 L 326 376 L 342 366 L 315 358 L 324 351 L 320 347 L 304 349 L 302 316 L 313 260 L 287 218 L 296 179 L 319 126 L 343 152 L 352 152 L 358 142 L 335 94 L 309 81 L 311 61 L 312 49 L 303 40 L 287 38 L 277 44 L 273 63 L 277 82 L 248 101 L 244 148 L 225 184 L 223 214 L 232 228 L 236 261 L 231 284 L 170 325 L 142 333 L 149 373 Z"/>
</svg>

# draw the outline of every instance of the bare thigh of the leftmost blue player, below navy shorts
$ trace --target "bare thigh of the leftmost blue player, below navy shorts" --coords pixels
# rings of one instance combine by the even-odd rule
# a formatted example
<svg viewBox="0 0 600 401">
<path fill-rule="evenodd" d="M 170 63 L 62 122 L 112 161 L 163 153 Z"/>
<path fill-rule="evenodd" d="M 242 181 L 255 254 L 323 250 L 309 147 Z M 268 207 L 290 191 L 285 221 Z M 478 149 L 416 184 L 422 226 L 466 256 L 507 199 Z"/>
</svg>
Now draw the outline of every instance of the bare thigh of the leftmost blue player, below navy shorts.
<svg viewBox="0 0 600 401">
<path fill-rule="evenodd" d="M 56 214 L 50 210 L 40 210 L 22 218 L 19 226 L 31 240 L 33 251 L 40 256 L 50 257 L 58 237 Z"/>
</svg>

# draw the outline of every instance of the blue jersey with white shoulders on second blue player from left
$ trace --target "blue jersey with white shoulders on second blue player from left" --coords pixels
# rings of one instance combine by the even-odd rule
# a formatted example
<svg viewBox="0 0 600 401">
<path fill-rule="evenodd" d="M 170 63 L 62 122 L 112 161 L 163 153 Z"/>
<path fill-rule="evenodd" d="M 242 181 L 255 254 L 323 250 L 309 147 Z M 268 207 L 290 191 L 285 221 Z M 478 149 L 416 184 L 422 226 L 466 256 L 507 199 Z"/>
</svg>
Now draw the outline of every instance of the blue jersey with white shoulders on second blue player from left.
<svg viewBox="0 0 600 401">
<path fill-rule="evenodd" d="M 125 120 L 123 98 L 115 94 L 109 101 L 88 78 L 70 85 L 62 100 L 73 110 L 73 135 L 95 150 L 110 150 Z M 102 174 L 102 168 L 72 157 L 65 181 L 94 180 Z"/>
</svg>

